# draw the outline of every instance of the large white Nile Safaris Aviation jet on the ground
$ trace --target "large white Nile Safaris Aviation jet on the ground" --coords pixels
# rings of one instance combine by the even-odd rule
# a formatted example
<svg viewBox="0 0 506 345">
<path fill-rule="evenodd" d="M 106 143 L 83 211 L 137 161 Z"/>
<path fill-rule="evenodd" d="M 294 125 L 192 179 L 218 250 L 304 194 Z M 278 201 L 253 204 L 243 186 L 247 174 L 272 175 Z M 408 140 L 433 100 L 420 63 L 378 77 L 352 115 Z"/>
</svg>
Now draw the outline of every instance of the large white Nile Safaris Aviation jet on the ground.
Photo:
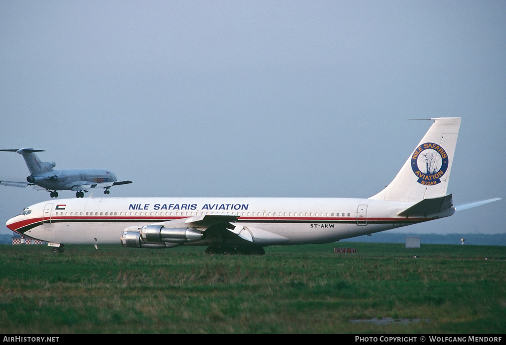
<svg viewBox="0 0 506 345">
<path fill-rule="evenodd" d="M 395 179 L 368 199 L 88 198 L 41 202 L 7 222 L 21 235 L 64 244 L 135 248 L 208 246 L 206 253 L 330 243 L 452 215 L 446 194 L 460 118 L 434 124 Z M 479 206 L 499 198 L 462 205 Z"/>
</svg>

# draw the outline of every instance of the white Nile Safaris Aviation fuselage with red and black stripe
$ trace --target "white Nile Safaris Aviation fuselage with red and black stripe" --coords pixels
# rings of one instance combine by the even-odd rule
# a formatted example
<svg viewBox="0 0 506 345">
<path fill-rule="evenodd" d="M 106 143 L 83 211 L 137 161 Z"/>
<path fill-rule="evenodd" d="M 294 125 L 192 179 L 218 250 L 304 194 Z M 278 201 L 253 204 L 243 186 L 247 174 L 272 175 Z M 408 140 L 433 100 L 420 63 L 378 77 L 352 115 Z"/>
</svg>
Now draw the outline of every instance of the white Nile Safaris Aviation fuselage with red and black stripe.
<svg viewBox="0 0 506 345">
<path fill-rule="evenodd" d="M 120 244 L 125 228 L 211 215 L 238 217 L 254 244 L 329 243 L 436 217 L 402 217 L 413 202 L 352 198 L 86 198 L 30 206 L 7 226 L 34 239 L 60 244 Z M 439 214 L 437 217 L 454 212 Z M 240 240 L 240 239 L 239 239 Z M 202 240 L 191 245 L 210 245 Z M 223 239 L 222 239 L 223 241 Z M 237 239 L 230 239 L 234 245 Z M 234 242 L 235 241 L 235 242 Z"/>
</svg>

